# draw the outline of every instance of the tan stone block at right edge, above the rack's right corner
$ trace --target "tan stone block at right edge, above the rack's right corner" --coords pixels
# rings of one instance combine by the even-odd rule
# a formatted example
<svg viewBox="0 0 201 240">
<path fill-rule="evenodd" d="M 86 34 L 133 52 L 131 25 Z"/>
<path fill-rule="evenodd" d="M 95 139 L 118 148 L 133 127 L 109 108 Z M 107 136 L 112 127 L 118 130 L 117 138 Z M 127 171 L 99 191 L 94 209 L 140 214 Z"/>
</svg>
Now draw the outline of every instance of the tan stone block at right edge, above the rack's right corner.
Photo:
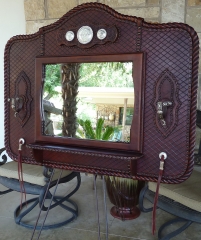
<svg viewBox="0 0 201 240">
<path fill-rule="evenodd" d="M 187 9 L 186 23 L 201 32 L 201 7 Z"/>
</svg>

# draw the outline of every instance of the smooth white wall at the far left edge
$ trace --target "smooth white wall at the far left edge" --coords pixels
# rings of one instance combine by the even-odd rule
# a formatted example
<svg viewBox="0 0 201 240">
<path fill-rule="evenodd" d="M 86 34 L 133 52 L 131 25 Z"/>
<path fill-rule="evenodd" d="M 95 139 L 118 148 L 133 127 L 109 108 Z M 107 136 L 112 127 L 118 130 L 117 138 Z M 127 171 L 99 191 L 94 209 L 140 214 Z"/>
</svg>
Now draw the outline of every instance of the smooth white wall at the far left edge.
<svg viewBox="0 0 201 240">
<path fill-rule="evenodd" d="M 0 148 L 4 146 L 4 48 L 11 37 L 25 32 L 24 0 L 0 0 Z"/>
</svg>

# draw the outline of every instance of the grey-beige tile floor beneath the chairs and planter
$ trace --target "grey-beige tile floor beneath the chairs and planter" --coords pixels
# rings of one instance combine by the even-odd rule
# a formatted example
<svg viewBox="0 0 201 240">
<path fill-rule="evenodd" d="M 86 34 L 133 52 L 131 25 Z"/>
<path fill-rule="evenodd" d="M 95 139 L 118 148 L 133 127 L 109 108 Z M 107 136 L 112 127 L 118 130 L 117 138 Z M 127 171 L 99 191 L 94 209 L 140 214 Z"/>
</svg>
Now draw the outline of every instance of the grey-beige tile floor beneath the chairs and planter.
<svg viewBox="0 0 201 240">
<path fill-rule="evenodd" d="M 101 240 L 105 240 L 105 218 L 104 218 L 104 201 L 102 191 L 102 180 L 97 180 L 99 212 L 100 212 L 100 227 Z M 73 187 L 75 183 L 72 181 L 69 184 L 61 184 L 58 188 L 58 194 L 64 195 Z M 3 187 L 0 187 L 3 190 Z M 28 195 L 28 198 L 32 196 Z M 82 184 L 72 199 L 79 206 L 79 216 L 74 221 L 64 227 L 54 230 L 43 230 L 40 239 L 46 240 L 98 240 L 97 234 L 97 217 L 95 207 L 95 195 L 93 190 L 93 177 L 82 174 Z M 13 212 L 20 203 L 20 194 L 11 192 L 0 196 L 0 240 L 29 240 L 31 239 L 32 230 L 23 228 L 15 224 Z M 113 218 L 109 214 L 111 203 L 107 199 L 108 207 L 108 226 L 109 240 L 156 240 L 157 236 L 151 234 L 151 213 L 141 213 L 140 217 L 131 221 L 121 221 Z M 38 209 L 33 210 L 26 221 L 35 222 Z M 64 217 L 64 210 L 58 209 L 57 212 L 52 212 L 48 215 L 47 222 L 55 222 L 57 219 Z M 157 227 L 172 216 L 157 210 Z M 42 220 L 41 220 L 42 221 Z M 33 239 L 37 239 L 37 231 Z M 181 233 L 175 240 L 200 240 L 201 225 L 193 223 L 185 232 Z"/>
</svg>

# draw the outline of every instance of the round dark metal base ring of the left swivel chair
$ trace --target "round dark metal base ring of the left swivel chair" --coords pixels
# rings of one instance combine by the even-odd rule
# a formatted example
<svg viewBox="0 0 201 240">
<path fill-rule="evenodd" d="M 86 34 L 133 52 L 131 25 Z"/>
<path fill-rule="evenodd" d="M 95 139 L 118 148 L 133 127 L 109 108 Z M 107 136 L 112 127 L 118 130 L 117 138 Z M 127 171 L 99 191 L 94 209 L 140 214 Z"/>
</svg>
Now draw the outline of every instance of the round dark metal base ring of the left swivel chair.
<svg viewBox="0 0 201 240">
<path fill-rule="evenodd" d="M 59 199 L 62 199 L 63 197 L 54 197 L 53 198 L 53 201 L 57 202 Z M 70 203 L 71 204 L 71 207 L 69 206 L 66 206 L 64 205 L 63 203 L 62 204 L 59 204 L 60 207 L 62 207 L 63 209 L 67 210 L 68 212 L 70 212 L 72 214 L 71 217 L 69 217 L 68 219 L 62 221 L 62 222 L 59 222 L 59 223 L 56 223 L 56 224 L 52 224 L 52 225 L 44 225 L 43 226 L 43 229 L 52 229 L 52 228 L 57 228 L 57 227 L 61 227 L 63 225 L 66 225 L 67 223 L 69 222 L 72 222 L 74 219 L 77 218 L 78 216 L 78 207 L 77 207 L 77 204 L 75 202 L 73 202 L 72 200 L 70 199 L 65 199 L 66 202 Z M 28 207 L 25 211 L 22 212 L 22 209 L 28 205 L 29 203 L 33 203 L 30 207 Z M 34 208 L 38 205 L 39 203 L 39 198 L 32 198 L 30 200 L 28 200 L 27 202 L 23 202 L 22 203 L 22 208 L 20 209 L 20 205 L 15 209 L 15 212 L 14 212 L 14 219 L 15 219 L 15 222 L 16 224 L 18 225 L 21 225 L 23 227 L 26 227 L 26 228 L 29 228 L 29 229 L 33 229 L 35 227 L 35 224 L 28 224 L 28 223 L 25 223 L 23 222 L 23 218 Z M 41 229 L 41 226 L 38 225 L 36 227 L 37 230 L 40 230 Z"/>
</svg>

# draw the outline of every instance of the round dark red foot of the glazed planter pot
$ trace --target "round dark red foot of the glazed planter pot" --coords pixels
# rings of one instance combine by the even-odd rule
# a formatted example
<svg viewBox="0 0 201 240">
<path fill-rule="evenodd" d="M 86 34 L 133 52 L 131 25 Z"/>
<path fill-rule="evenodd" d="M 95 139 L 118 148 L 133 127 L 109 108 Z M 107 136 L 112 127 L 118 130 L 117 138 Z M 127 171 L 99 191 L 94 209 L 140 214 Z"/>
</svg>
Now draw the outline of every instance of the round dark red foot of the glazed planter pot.
<svg viewBox="0 0 201 240">
<path fill-rule="evenodd" d="M 117 208 L 112 207 L 110 213 L 113 217 L 121 220 L 132 220 L 140 216 L 140 210 L 138 207 L 130 208 Z"/>
</svg>

